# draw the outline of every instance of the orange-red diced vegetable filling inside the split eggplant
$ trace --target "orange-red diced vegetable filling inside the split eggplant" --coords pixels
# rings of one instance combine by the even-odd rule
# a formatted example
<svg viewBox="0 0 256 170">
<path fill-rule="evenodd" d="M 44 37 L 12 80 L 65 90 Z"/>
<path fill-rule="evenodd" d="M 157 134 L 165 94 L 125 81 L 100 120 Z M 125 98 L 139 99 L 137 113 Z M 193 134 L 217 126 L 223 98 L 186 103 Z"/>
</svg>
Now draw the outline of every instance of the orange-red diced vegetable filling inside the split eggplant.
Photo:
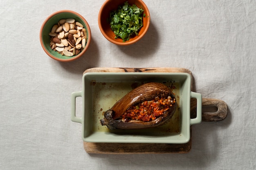
<svg viewBox="0 0 256 170">
<path fill-rule="evenodd" d="M 156 97 L 153 100 L 132 105 L 124 112 L 120 119 L 124 122 L 129 122 L 130 120 L 149 122 L 164 114 L 165 111 L 168 111 L 175 102 L 176 99 L 174 97 L 171 98 L 171 96 L 167 98 Z"/>
</svg>

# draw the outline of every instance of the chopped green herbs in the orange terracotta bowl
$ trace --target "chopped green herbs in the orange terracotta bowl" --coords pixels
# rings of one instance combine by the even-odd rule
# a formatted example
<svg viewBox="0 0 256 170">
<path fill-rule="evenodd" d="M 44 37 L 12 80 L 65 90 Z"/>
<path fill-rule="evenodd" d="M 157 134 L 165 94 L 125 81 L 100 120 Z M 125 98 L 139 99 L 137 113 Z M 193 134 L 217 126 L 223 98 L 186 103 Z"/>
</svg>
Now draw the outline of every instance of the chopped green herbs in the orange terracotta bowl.
<svg viewBox="0 0 256 170">
<path fill-rule="evenodd" d="M 130 5 L 124 2 L 117 10 L 110 13 L 110 28 L 115 33 L 115 39 L 121 38 L 123 42 L 128 41 L 130 37 L 138 35 L 143 26 L 144 10 L 138 8 L 135 4 Z"/>
</svg>

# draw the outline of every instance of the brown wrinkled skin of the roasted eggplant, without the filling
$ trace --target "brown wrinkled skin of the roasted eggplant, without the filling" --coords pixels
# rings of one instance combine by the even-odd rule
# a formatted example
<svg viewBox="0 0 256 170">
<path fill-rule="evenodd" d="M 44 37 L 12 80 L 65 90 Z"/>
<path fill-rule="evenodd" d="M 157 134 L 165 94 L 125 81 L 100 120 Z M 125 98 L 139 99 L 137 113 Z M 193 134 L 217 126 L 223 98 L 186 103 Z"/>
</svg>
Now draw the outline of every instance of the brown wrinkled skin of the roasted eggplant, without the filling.
<svg viewBox="0 0 256 170">
<path fill-rule="evenodd" d="M 168 111 L 165 111 L 160 117 L 149 122 L 143 122 L 139 120 L 130 120 L 129 122 L 123 122 L 117 120 L 128 107 L 135 105 L 139 102 L 146 100 L 152 100 L 156 97 L 167 98 L 171 96 L 174 98 L 173 93 L 166 85 L 162 83 L 145 83 L 139 87 L 133 89 L 123 98 L 115 103 L 109 110 L 104 112 L 104 118 L 100 120 L 101 125 L 106 125 L 108 129 L 144 129 L 155 127 L 164 124 L 169 120 L 176 109 L 176 103 L 172 105 Z"/>
</svg>

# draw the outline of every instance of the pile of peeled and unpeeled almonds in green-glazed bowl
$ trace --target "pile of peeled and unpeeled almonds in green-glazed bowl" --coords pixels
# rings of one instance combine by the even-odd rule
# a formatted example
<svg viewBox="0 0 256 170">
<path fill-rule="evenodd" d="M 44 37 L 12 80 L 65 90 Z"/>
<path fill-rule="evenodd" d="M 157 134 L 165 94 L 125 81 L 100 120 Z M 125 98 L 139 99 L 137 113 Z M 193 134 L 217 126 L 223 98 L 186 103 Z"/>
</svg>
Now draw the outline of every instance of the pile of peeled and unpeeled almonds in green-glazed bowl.
<svg viewBox="0 0 256 170">
<path fill-rule="evenodd" d="M 52 27 L 50 47 L 61 55 L 72 57 L 79 54 L 86 45 L 87 32 L 83 24 L 73 18 L 61 19 Z"/>
</svg>

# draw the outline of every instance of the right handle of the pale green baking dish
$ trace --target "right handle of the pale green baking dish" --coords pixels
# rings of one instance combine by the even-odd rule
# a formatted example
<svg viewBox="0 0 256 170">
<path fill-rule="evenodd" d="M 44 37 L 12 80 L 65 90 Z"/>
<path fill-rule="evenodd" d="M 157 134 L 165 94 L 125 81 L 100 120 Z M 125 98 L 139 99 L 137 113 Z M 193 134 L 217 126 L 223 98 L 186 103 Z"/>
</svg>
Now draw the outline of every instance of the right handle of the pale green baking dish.
<svg viewBox="0 0 256 170">
<path fill-rule="evenodd" d="M 202 122 L 202 94 L 191 92 L 191 98 L 196 98 L 196 118 L 190 119 L 190 124 L 198 124 Z"/>
</svg>

